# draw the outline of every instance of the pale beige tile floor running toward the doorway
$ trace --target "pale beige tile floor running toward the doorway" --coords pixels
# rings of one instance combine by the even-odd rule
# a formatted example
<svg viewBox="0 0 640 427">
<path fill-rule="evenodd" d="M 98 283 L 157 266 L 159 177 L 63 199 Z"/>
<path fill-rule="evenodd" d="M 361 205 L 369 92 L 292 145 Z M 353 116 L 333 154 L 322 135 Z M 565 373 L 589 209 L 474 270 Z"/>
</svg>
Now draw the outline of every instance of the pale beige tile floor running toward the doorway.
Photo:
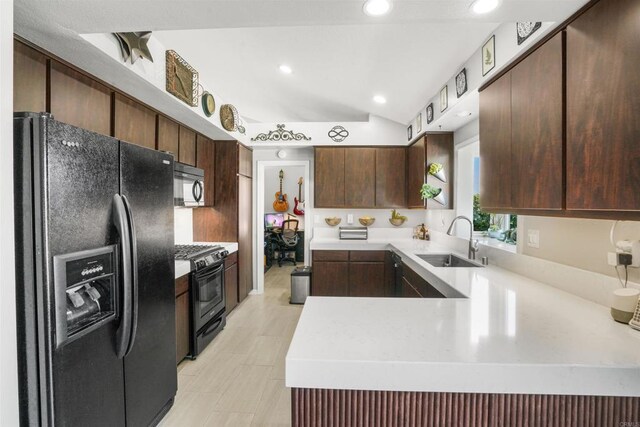
<svg viewBox="0 0 640 427">
<path fill-rule="evenodd" d="M 198 359 L 178 365 L 178 394 L 161 427 L 288 426 L 291 391 L 284 363 L 302 306 L 290 305 L 291 270 L 265 275 Z"/>
</svg>

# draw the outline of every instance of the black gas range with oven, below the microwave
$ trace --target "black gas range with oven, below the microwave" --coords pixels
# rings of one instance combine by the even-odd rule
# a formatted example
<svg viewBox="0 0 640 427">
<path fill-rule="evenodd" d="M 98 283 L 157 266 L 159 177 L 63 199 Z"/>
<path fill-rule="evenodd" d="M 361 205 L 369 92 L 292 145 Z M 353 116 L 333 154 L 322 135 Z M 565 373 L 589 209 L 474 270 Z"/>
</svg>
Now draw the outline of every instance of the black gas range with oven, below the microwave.
<svg viewBox="0 0 640 427">
<path fill-rule="evenodd" d="M 224 260 L 229 255 L 218 245 L 176 245 L 176 260 L 191 263 L 191 348 L 195 359 L 226 325 Z"/>
</svg>

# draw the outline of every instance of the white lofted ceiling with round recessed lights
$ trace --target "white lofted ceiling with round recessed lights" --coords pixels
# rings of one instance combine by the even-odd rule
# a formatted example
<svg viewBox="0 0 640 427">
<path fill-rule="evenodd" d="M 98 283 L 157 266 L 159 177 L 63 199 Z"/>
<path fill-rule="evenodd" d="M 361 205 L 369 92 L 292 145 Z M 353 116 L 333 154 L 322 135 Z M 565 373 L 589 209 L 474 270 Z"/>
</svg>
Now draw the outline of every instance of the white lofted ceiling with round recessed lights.
<svg viewBox="0 0 640 427">
<path fill-rule="evenodd" d="M 16 0 L 16 20 L 53 33 L 153 30 L 210 90 L 258 122 L 407 123 L 503 22 L 561 21 L 586 0 L 395 0 L 388 16 L 361 0 Z M 16 25 L 20 25 L 19 22 Z M 55 27 L 55 28 L 54 28 Z M 291 75 L 278 70 L 292 67 Z M 375 94 L 385 105 L 372 101 Z"/>
</svg>

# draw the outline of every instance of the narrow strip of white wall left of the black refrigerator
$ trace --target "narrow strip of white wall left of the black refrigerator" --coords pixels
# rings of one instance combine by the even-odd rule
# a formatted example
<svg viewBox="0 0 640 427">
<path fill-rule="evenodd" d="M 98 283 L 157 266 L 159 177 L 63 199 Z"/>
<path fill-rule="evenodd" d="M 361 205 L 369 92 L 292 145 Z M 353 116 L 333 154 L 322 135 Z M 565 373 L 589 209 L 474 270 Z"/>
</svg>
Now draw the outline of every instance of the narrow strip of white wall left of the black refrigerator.
<svg viewBox="0 0 640 427">
<path fill-rule="evenodd" d="M 18 425 L 13 228 L 13 0 L 0 0 L 0 420 Z"/>
</svg>

